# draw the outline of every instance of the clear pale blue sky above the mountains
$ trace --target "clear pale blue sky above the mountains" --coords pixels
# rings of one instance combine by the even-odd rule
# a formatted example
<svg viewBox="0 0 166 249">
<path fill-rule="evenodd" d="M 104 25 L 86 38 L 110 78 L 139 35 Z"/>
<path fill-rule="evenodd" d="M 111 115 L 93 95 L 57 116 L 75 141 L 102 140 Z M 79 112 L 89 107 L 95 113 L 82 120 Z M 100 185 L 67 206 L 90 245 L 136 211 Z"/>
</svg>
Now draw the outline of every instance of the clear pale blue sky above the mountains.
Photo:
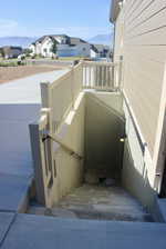
<svg viewBox="0 0 166 249">
<path fill-rule="evenodd" d="M 107 34 L 110 4 L 111 0 L 2 0 L 0 37 Z"/>
</svg>

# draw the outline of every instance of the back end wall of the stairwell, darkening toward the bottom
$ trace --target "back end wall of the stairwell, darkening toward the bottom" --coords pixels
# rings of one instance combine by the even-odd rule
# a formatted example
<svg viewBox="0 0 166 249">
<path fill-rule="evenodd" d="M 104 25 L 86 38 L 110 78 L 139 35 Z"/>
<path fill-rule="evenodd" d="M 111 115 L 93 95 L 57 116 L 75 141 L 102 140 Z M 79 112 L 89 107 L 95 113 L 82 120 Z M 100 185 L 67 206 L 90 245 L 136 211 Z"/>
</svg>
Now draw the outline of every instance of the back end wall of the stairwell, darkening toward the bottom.
<svg viewBox="0 0 166 249">
<path fill-rule="evenodd" d="M 105 177 L 120 178 L 123 155 L 120 139 L 124 136 L 122 97 L 86 92 L 85 117 L 86 170 L 95 169 L 102 175 L 105 171 Z"/>
</svg>

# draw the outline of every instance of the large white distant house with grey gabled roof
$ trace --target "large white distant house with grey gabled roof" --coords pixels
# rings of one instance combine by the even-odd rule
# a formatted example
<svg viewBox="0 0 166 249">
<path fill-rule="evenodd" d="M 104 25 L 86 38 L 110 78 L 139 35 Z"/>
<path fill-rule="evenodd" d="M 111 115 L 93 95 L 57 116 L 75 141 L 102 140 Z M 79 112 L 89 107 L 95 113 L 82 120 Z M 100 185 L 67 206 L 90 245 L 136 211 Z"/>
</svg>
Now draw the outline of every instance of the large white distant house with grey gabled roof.
<svg viewBox="0 0 166 249">
<path fill-rule="evenodd" d="M 56 56 L 59 57 L 90 57 L 91 44 L 80 38 L 65 34 L 43 36 L 30 46 L 32 54 L 52 57 L 52 46 L 56 42 Z"/>
</svg>

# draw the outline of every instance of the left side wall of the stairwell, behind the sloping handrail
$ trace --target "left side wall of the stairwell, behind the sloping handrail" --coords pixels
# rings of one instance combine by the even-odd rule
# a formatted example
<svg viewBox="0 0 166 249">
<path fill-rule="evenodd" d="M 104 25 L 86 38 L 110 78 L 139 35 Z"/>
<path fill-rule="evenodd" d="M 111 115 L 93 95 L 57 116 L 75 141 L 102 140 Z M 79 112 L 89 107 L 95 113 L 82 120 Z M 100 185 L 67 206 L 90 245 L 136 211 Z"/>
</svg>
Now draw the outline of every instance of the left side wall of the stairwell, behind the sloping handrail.
<svg viewBox="0 0 166 249">
<path fill-rule="evenodd" d="M 84 156 L 84 94 L 80 94 L 75 102 L 74 111 L 71 111 L 62 124 L 58 136 L 72 149 Z M 69 193 L 79 187 L 83 180 L 83 160 L 80 161 L 69 155 L 62 147 L 54 143 L 54 158 L 56 167 L 56 182 L 54 185 L 54 199 Z"/>
</svg>

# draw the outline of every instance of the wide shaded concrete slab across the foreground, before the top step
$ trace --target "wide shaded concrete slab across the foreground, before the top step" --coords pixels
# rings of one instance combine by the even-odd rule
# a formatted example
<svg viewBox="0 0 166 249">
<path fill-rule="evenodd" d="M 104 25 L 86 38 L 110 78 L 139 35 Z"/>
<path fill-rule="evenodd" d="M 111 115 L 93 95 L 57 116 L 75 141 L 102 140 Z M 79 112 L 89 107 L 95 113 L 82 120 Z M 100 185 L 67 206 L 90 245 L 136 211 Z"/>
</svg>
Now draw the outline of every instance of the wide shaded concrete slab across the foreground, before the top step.
<svg viewBox="0 0 166 249">
<path fill-rule="evenodd" d="M 18 215 L 2 249 L 165 249 L 166 225 Z"/>
</svg>

